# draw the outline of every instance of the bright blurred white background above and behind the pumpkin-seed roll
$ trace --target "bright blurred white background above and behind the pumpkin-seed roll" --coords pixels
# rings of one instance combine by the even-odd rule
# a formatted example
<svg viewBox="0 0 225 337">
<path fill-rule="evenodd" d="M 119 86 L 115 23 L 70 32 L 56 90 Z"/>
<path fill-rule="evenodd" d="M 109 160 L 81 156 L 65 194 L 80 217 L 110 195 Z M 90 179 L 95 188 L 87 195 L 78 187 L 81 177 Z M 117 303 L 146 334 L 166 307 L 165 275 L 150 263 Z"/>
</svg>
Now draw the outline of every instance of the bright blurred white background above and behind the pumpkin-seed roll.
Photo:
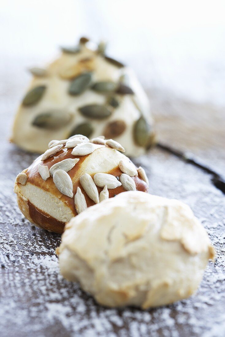
<svg viewBox="0 0 225 337">
<path fill-rule="evenodd" d="M 22 95 L 25 68 L 84 35 L 108 40 L 108 54 L 131 65 L 145 89 L 224 106 L 224 18 L 224 0 L 2 1 L 0 69 L 16 72 Z"/>
</svg>

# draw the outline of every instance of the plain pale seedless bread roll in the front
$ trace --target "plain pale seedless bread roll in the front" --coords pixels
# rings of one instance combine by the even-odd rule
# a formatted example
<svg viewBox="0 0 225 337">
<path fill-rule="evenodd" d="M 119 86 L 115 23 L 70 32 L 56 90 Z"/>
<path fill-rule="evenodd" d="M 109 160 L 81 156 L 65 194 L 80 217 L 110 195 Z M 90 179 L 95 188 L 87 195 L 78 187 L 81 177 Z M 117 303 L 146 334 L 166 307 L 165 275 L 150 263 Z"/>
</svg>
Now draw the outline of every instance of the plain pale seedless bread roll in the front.
<svg viewBox="0 0 225 337">
<path fill-rule="evenodd" d="M 62 275 L 100 304 L 143 309 L 191 296 L 214 258 L 189 206 L 137 191 L 71 219 L 57 253 Z"/>
</svg>

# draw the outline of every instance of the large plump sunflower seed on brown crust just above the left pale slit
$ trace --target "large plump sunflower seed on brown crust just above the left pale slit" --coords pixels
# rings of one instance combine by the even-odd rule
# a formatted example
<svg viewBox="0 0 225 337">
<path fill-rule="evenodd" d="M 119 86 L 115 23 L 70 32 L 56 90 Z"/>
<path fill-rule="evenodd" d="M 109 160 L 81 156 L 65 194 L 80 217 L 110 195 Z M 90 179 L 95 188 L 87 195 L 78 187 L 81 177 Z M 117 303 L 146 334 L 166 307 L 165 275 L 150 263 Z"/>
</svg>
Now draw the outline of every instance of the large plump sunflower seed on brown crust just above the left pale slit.
<svg viewBox="0 0 225 337">
<path fill-rule="evenodd" d="M 53 174 L 53 181 L 62 194 L 73 198 L 73 182 L 68 173 L 63 170 L 55 171 Z"/>
</svg>

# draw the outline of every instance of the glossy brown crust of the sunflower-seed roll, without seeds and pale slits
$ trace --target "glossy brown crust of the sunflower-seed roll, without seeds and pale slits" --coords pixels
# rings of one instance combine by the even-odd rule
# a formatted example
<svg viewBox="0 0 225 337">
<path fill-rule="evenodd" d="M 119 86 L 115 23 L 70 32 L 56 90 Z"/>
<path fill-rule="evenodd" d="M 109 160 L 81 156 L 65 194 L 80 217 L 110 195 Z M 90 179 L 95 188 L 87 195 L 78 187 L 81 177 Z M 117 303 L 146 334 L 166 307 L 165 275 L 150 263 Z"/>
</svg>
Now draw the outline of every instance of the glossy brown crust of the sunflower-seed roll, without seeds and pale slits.
<svg viewBox="0 0 225 337">
<path fill-rule="evenodd" d="M 72 218 L 73 216 L 77 215 L 77 211 L 74 204 L 74 197 L 68 197 L 66 195 L 63 195 L 55 186 L 53 182 L 53 178 L 50 176 L 46 181 L 43 180 L 38 172 L 38 165 L 45 165 L 50 168 L 52 165 L 68 158 L 79 158 L 79 161 L 76 163 L 76 165 L 68 172 L 68 175 L 71 177 L 73 181 L 73 195 L 75 195 L 77 191 L 77 187 L 81 188 L 82 193 L 85 196 L 87 207 L 93 206 L 95 203 L 92 201 L 89 196 L 84 191 L 83 187 L 80 184 L 80 176 L 85 172 L 86 168 L 86 162 L 85 160 L 88 159 L 90 155 L 86 156 L 74 156 L 71 154 L 73 149 L 67 149 L 63 148 L 61 151 L 55 154 L 55 156 L 52 156 L 44 161 L 41 161 L 41 156 L 39 156 L 26 170 L 23 171 L 23 173 L 26 173 L 27 175 L 27 186 L 35 186 L 37 189 L 40 189 L 42 191 L 45 191 L 49 193 L 49 195 L 52 195 L 54 198 L 56 198 L 57 201 L 59 201 L 63 208 L 67 209 L 68 213 L 71 214 Z M 98 150 L 95 150 L 98 151 Z M 101 149 L 99 149 L 99 152 Z M 107 148 L 107 151 L 110 151 L 110 153 L 114 151 L 112 149 Z M 120 156 L 123 156 L 122 154 L 119 154 Z M 101 153 L 100 153 L 101 156 Z M 122 171 L 118 167 L 114 167 L 112 170 L 108 171 L 107 173 L 112 174 L 114 176 L 120 176 L 122 174 Z M 90 174 L 93 178 L 94 173 Z M 134 179 L 136 188 L 139 191 L 147 192 L 147 184 L 139 177 L 132 177 Z M 15 193 L 18 194 L 18 205 L 21 210 L 21 212 L 24 214 L 24 216 L 31 221 L 32 223 L 36 224 L 39 227 L 42 227 L 44 229 L 47 229 L 48 231 L 56 232 L 56 233 L 63 233 L 65 221 L 62 221 L 62 219 L 56 218 L 56 216 L 50 215 L 46 210 L 41 209 L 42 207 L 38 207 L 38 204 L 35 204 L 34 201 L 29 200 L 29 198 L 24 197 L 21 189 L 26 188 L 26 186 L 21 186 L 19 183 L 15 183 Z M 98 192 L 100 193 L 103 188 L 97 187 Z M 109 197 L 114 197 L 115 195 L 124 192 L 124 188 L 122 186 L 119 186 L 114 189 L 109 189 Z M 25 193 L 25 192 L 24 192 Z M 38 192 L 35 192 L 38 193 Z M 70 220 L 68 219 L 68 221 Z"/>
</svg>

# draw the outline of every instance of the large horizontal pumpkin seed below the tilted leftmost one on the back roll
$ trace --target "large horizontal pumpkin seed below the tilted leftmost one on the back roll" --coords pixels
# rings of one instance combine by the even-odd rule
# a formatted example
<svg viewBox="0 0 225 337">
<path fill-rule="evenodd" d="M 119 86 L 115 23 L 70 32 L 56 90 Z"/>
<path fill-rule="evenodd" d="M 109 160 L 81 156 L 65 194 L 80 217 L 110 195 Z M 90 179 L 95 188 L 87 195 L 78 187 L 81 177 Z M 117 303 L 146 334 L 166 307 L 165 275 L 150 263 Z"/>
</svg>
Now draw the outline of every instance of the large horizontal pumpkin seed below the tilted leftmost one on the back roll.
<svg viewBox="0 0 225 337">
<path fill-rule="evenodd" d="M 43 129 L 56 130 L 68 124 L 70 121 L 71 115 L 64 111 L 48 111 L 37 115 L 32 125 Z"/>
</svg>

